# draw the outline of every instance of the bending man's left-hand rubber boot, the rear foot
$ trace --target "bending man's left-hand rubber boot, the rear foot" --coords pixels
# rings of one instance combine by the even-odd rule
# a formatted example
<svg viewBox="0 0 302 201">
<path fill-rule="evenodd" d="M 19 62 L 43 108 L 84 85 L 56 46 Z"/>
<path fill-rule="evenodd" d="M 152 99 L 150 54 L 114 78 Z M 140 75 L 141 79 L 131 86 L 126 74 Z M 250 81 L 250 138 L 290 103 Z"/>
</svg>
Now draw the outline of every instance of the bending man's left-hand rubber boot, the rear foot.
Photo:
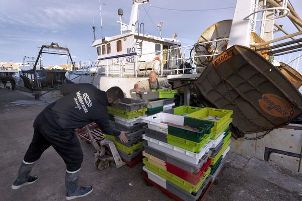
<svg viewBox="0 0 302 201">
<path fill-rule="evenodd" d="M 34 164 L 35 162 L 28 163 L 25 162 L 24 160 L 22 161 L 18 172 L 18 178 L 15 180 L 15 182 L 12 185 L 13 189 L 18 189 L 24 185 L 32 184 L 38 179 L 37 176 L 29 175 Z"/>
</svg>

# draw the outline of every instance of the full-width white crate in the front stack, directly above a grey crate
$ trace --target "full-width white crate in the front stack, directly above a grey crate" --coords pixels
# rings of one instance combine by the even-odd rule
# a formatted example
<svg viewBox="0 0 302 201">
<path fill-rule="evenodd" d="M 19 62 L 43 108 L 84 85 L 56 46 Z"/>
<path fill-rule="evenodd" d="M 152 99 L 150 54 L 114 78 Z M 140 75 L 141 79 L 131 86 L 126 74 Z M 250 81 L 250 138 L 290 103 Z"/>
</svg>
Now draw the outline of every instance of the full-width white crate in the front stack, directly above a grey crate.
<svg viewBox="0 0 302 201">
<path fill-rule="evenodd" d="M 174 157 L 177 157 L 181 160 L 184 160 L 188 163 L 198 164 L 199 160 L 202 158 L 202 156 L 207 153 L 210 150 L 210 147 L 212 146 L 211 143 L 206 144 L 204 148 L 199 153 L 194 153 L 182 148 L 179 148 L 177 146 L 173 146 L 167 143 L 164 143 L 162 141 L 156 140 L 154 138 L 150 138 L 142 135 L 142 139 L 146 140 L 149 147 L 152 147 L 154 149 L 157 149 L 159 151 L 165 152 L 167 154 L 170 154 Z"/>
</svg>

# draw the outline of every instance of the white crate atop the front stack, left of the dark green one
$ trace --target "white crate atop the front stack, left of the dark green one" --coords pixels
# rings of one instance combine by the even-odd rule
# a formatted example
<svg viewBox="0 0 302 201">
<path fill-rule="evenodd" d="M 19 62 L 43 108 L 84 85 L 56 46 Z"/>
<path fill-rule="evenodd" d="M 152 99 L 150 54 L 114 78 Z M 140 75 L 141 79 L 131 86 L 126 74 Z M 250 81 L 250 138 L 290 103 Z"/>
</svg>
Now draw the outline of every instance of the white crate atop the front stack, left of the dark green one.
<svg viewBox="0 0 302 201">
<path fill-rule="evenodd" d="M 168 113 L 158 113 L 143 118 L 142 122 L 147 123 L 149 129 L 168 134 L 168 124 L 163 124 L 161 122 L 184 125 L 184 117 Z"/>
</svg>

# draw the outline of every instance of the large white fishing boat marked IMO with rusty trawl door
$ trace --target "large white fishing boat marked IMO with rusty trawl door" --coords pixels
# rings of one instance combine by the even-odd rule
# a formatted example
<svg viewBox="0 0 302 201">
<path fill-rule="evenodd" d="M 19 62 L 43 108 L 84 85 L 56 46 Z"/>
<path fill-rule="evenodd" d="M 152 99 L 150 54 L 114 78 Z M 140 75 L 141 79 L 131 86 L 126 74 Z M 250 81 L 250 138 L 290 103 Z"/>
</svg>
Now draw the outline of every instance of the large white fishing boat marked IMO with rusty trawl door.
<svg viewBox="0 0 302 201">
<path fill-rule="evenodd" d="M 302 38 L 295 37 L 301 37 L 302 20 L 290 3 L 237 1 L 232 20 L 214 23 L 196 44 L 185 47 L 176 34 L 163 38 L 144 32 L 137 10 L 145 3 L 132 1 L 129 24 L 122 22 L 119 9 L 120 34 L 94 40 L 98 60 L 88 62 L 87 73 L 67 71 L 66 78 L 102 90 L 118 85 L 131 96 L 134 83 L 155 71 L 173 88 L 183 88 L 183 105 L 190 104 L 194 92 L 201 106 L 234 111 L 233 151 L 297 171 L 302 150 L 302 126 L 296 124 L 302 114 L 298 91 L 302 77 L 275 60 L 301 50 Z M 289 34 L 276 24 L 281 18 L 291 21 L 298 32 Z M 285 36 L 274 38 L 274 27 Z"/>
</svg>

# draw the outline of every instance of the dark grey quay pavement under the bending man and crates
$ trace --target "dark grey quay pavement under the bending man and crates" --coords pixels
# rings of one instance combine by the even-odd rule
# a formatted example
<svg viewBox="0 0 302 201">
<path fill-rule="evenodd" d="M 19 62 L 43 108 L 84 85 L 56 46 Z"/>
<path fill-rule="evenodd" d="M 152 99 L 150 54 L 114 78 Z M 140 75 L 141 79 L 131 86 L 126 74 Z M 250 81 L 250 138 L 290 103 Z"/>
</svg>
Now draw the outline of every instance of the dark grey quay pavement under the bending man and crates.
<svg viewBox="0 0 302 201">
<path fill-rule="evenodd" d="M 1 200 L 65 200 L 65 165 L 53 148 L 46 150 L 33 167 L 32 174 L 39 176 L 37 182 L 11 189 L 32 139 L 33 121 L 51 102 L 43 97 L 35 100 L 23 91 L 0 88 Z M 142 162 L 132 168 L 110 166 L 100 171 L 94 165 L 93 146 L 84 140 L 81 145 L 84 161 L 80 184 L 93 185 L 94 190 L 76 200 L 171 200 L 155 186 L 146 185 Z M 302 177 L 231 152 L 204 200 L 302 200 Z"/>
</svg>

